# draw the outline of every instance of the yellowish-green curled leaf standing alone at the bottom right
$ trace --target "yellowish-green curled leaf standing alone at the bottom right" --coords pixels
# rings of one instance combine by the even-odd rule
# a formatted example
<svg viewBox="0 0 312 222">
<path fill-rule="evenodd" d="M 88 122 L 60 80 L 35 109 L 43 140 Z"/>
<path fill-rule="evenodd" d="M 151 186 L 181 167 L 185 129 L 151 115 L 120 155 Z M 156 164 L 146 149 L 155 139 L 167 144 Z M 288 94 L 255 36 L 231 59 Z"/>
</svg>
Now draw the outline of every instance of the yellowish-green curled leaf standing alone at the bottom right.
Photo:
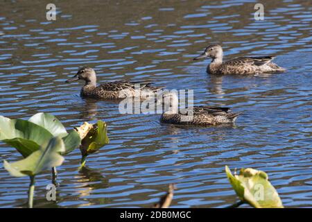
<svg viewBox="0 0 312 222">
<path fill-rule="evenodd" d="M 241 169 L 239 175 L 233 176 L 227 166 L 225 166 L 225 172 L 237 196 L 245 203 L 256 208 L 284 207 L 265 172 L 247 168 Z"/>
</svg>

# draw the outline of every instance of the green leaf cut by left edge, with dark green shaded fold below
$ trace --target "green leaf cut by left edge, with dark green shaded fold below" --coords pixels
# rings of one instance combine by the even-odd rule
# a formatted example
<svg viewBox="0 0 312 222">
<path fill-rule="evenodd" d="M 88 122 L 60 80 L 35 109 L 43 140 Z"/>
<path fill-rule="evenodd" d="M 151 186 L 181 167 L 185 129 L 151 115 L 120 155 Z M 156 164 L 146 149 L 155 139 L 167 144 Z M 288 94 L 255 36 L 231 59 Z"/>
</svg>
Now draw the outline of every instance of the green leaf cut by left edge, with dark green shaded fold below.
<svg viewBox="0 0 312 222">
<path fill-rule="evenodd" d="M 35 123 L 0 116 L 0 140 L 15 147 L 24 157 L 44 146 L 51 137 L 48 130 Z"/>
</svg>

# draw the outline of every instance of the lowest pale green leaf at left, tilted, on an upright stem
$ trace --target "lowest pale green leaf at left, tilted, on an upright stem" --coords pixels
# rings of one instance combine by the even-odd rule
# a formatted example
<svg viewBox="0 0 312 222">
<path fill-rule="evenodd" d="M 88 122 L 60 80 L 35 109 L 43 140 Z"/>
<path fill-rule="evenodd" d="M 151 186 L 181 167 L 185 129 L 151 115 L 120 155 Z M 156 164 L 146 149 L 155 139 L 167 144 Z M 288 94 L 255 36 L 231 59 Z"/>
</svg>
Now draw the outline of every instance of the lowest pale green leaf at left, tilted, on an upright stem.
<svg viewBox="0 0 312 222">
<path fill-rule="evenodd" d="M 35 176 L 40 172 L 58 167 L 64 161 L 64 157 L 59 153 L 64 152 L 64 142 L 60 137 L 53 137 L 46 146 L 41 146 L 38 151 L 33 152 L 24 160 L 13 163 L 3 162 L 3 167 L 11 176 Z"/>
</svg>

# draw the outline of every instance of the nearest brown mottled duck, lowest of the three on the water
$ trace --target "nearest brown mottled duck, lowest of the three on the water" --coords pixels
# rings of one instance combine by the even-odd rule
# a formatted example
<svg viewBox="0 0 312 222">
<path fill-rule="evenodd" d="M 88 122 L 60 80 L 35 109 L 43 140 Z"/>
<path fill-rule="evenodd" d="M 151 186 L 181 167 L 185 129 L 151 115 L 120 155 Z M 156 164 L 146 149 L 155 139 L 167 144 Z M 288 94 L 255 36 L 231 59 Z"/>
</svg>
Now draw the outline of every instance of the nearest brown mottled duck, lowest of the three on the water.
<svg viewBox="0 0 312 222">
<path fill-rule="evenodd" d="M 178 97 L 175 93 L 163 95 L 165 107 L 168 108 L 160 117 L 161 123 L 174 125 L 214 126 L 221 123 L 234 123 L 241 112 L 230 112 L 231 108 L 193 106 L 193 114 L 178 111 Z"/>
</svg>

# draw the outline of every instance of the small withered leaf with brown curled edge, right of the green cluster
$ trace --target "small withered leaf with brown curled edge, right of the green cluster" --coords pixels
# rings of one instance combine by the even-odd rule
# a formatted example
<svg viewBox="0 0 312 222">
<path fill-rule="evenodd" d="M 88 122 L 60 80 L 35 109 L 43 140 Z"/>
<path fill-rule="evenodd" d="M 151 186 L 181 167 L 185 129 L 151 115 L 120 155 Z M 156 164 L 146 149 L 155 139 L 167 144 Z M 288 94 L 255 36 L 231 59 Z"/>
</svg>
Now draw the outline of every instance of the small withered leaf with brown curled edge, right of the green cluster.
<svg viewBox="0 0 312 222">
<path fill-rule="evenodd" d="M 83 156 L 87 156 L 95 153 L 109 142 L 106 123 L 99 120 L 96 126 L 89 130 L 89 133 L 81 141 L 80 151 Z"/>
</svg>

